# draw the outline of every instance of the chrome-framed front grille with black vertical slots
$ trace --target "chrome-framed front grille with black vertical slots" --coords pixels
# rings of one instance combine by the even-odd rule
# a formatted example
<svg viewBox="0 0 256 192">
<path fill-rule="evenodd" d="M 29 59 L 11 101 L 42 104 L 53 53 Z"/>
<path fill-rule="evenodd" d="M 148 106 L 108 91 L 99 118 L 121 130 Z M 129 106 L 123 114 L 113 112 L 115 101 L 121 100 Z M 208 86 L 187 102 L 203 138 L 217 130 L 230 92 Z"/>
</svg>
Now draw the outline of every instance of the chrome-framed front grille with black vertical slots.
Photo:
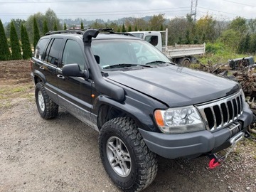
<svg viewBox="0 0 256 192">
<path fill-rule="evenodd" d="M 213 131 L 234 122 L 243 111 L 242 90 L 230 97 L 196 105 L 206 129 Z"/>
</svg>

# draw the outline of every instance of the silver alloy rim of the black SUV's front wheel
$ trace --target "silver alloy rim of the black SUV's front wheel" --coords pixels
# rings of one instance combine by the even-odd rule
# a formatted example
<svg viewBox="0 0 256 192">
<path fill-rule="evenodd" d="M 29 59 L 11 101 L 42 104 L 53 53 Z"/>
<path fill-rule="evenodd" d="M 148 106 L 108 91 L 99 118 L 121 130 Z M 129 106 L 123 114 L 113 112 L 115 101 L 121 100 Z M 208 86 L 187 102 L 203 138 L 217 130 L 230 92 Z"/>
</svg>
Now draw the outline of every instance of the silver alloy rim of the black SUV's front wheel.
<svg viewBox="0 0 256 192">
<path fill-rule="evenodd" d="M 132 161 L 124 142 L 118 137 L 107 140 L 107 159 L 112 169 L 122 177 L 128 176 L 132 169 Z"/>
</svg>

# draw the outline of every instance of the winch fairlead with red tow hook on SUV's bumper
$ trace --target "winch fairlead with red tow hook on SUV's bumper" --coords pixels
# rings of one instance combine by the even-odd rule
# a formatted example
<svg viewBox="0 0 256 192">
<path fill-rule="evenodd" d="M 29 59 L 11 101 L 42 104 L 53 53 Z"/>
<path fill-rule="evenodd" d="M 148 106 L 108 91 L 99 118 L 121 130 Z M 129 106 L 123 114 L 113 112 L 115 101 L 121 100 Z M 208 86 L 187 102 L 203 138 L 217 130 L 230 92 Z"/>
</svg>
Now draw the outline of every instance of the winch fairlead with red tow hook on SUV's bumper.
<svg viewBox="0 0 256 192">
<path fill-rule="evenodd" d="M 235 145 L 244 137 L 250 137 L 250 134 L 248 132 L 240 132 L 236 134 L 234 137 L 230 138 L 230 149 L 228 149 L 227 153 L 223 156 L 218 156 L 217 154 L 208 154 L 208 157 L 210 158 L 209 162 L 209 168 L 214 169 L 216 166 L 219 166 L 221 163 L 227 159 L 228 155 L 231 151 L 235 148 Z"/>
</svg>

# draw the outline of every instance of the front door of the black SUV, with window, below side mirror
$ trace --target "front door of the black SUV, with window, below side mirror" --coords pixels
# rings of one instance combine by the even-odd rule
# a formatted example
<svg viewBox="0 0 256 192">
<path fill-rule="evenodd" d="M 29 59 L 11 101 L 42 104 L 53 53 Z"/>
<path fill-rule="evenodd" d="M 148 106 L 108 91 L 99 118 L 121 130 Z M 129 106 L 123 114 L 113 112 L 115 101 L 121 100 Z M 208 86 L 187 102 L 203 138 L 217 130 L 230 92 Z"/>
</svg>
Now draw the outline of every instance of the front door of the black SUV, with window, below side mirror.
<svg viewBox="0 0 256 192">
<path fill-rule="evenodd" d="M 63 66 L 72 63 L 77 63 L 80 66 L 80 70 L 85 70 L 85 59 L 85 53 L 79 38 L 67 38 L 61 56 L 61 63 L 57 70 L 58 100 L 68 112 L 75 115 L 82 122 L 95 126 L 92 124 L 90 117 L 92 109 L 92 80 L 68 77 L 62 74 Z"/>
</svg>

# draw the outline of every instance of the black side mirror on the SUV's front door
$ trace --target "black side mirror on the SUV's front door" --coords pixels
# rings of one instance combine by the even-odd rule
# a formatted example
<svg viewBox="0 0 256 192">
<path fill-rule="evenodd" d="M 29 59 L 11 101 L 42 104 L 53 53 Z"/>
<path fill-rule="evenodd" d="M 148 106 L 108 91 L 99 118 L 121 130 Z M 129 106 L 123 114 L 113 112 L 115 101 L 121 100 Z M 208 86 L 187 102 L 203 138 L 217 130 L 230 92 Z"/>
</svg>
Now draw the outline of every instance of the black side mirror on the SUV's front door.
<svg viewBox="0 0 256 192">
<path fill-rule="evenodd" d="M 89 78 L 89 73 L 87 70 L 80 70 L 77 63 L 64 65 L 62 73 L 65 76 L 81 77 L 86 80 Z"/>
</svg>

